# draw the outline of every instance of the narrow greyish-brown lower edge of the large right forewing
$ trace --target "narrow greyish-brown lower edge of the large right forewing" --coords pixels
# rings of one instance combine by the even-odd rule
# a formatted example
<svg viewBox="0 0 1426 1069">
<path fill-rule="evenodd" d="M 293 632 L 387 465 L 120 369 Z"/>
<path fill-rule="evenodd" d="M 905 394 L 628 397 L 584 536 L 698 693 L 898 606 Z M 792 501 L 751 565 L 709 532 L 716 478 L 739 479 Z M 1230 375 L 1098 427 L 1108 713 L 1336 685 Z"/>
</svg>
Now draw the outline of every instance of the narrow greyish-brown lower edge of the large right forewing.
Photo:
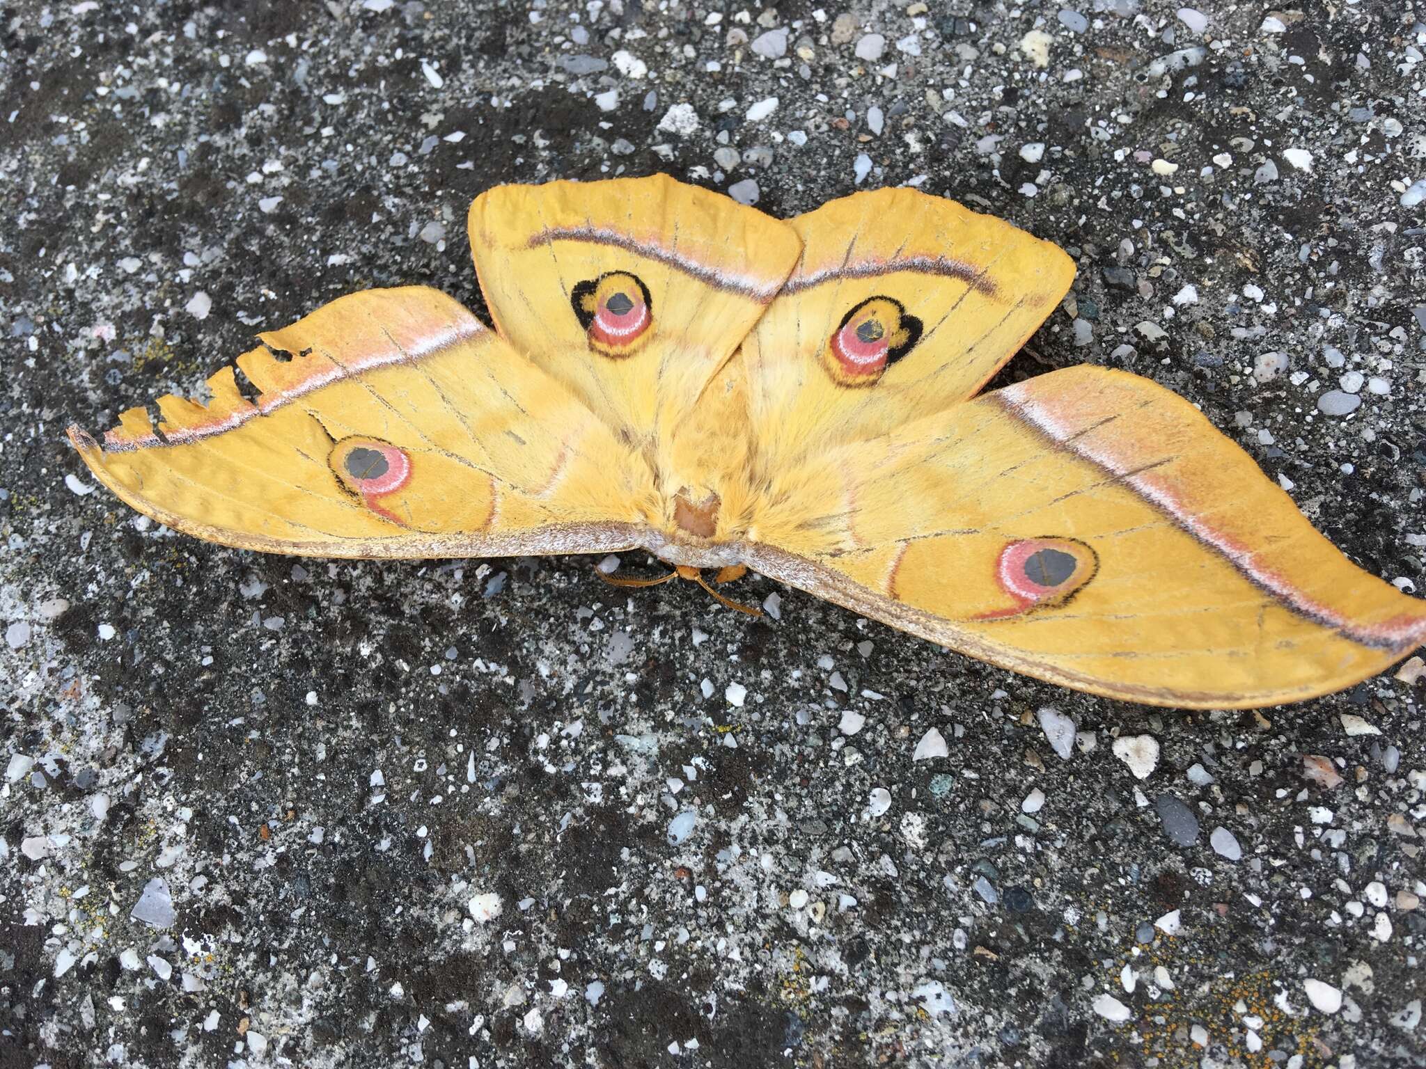
<svg viewBox="0 0 1426 1069">
<path fill-rule="evenodd" d="M 789 553 L 773 546 L 744 543 L 742 559 L 761 576 L 804 590 L 809 594 L 838 604 L 843 609 L 850 609 L 854 613 L 861 613 L 870 620 L 878 620 L 900 631 L 907 631 L 920 639 L 945 646 L 955 653 L 975 657 L 1000 668 L 1032 676 L 1045 683 L 1119 701 L 1135 701 L 1144 706 L 1165 706 L 1169 708 L 1262 708 L 1265 706 L 1305 701 L 1322 697 L 1323 694 L 1335 694 L 1362 680 L 1379 676 L 1412 653 L 1412 650 L 1373 651 L 1380 656 L 1376 667 L 1363 673 L 1350 673 L 1323 687 L 1299 687 L 1295 690 L 1228 696 L 1202 691 L 1175 691 L 1166 687 L 1115 684 L 1092 676 L 1065 671 L 1034 657 L 1017 656 L 1012 650 L 994 646 L 978 636 L 958 629 L 950 620 L 893 601 L 860 583 L 851 582 L 834 569 L 817 564 L 796 553 Z"/>
</svg>

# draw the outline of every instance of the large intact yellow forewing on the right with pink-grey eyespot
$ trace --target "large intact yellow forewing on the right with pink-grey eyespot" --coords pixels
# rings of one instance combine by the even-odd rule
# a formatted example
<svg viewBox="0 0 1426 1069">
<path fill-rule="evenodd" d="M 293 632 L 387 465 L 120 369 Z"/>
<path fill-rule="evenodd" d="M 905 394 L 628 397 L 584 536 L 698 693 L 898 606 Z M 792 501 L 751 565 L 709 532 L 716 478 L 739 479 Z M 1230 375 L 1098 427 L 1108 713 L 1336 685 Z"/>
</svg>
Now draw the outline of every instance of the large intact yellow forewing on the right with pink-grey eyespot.
<svg viewBox="0 0 1426 1069">
<path fill-rule="evenodd" d="M 1147 379 L 1071 368 L 789 470 L 759 572 L 1095 694 L 1253 707 L 1426 640 L 1242 449 Z"/>
</svg>

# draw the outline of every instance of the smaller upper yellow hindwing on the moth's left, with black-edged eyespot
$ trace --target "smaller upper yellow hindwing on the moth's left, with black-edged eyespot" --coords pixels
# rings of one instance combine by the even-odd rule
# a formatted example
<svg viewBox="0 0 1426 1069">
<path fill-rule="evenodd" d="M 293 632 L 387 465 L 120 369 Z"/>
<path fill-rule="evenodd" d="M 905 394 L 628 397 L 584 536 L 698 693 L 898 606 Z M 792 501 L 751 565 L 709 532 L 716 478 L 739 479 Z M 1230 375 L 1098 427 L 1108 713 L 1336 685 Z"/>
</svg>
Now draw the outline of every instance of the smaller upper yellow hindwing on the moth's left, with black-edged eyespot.
<svg viewBox="0 0 1426 1069">
<path fill-rule="evenodd" d="M 469 232 L 501 335 L 640 445 L 672 438 L 800 249 L 786 222 L 665 175 L 501 185 Z"/>
</svg>

